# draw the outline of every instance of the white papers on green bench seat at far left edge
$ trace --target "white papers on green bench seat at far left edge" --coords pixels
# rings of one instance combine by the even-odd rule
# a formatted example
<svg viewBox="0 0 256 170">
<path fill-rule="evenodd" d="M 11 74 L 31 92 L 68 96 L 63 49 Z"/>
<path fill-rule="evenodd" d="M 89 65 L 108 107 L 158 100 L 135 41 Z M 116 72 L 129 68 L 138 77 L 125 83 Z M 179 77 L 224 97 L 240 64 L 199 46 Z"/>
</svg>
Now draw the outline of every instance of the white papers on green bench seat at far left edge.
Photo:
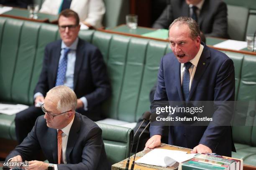
<svg viewBox="0 0 256 170">
<path fill-rule="evenodd" d="M 5 115 L 14 115 L 22 110 L 27 109 L 29 106 L 27 105 L 10 105 L 10 104 L 2 104 L 0 103 L 0 113 L 3 113 Z"/>
</svg>

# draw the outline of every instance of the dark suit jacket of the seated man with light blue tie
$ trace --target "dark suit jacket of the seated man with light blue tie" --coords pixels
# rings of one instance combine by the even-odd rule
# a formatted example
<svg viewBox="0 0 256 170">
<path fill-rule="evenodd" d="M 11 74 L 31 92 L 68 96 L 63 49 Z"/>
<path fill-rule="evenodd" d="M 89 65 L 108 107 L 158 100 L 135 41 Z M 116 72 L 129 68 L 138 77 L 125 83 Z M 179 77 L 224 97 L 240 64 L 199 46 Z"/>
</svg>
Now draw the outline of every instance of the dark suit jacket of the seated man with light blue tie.
<svg viewBox="0 0 256 170">
<path fill-rule="evenodd" d="M 44 96 L 55 86 L 61 40 L 51 42 L 45 48 L 44 63 L 34 93 L 41 92 Z M 86 97 L 88 111 L 78 110 L 92 120 L 100 120 L 99 104 L 111 94 L 107 69 L 100 50 L 81 39 L 78 41 L 74 68 L 74 92 L 77 98 Z"/>
</svg>

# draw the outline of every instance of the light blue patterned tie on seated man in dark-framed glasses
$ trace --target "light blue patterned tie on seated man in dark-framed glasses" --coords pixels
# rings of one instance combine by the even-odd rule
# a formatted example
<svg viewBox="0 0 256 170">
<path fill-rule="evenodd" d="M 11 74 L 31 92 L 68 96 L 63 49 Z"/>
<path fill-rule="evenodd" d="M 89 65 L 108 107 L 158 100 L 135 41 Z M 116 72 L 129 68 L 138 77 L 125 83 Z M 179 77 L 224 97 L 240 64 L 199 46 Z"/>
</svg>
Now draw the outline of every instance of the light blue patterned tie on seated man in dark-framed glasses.
<svg viewBox="0 0 256 170">
<path fill-rule="evenodd" d="M 57 79 L 56 79 L 55 86 L 64 84 L 66 71 L 67 71 L 67 55 L 68 55 L 69 51 L 70 51 L 69 48 L 64 48 L 64 57 L 59 62 L 59 67 L 58 67 Z"/>
</svg>

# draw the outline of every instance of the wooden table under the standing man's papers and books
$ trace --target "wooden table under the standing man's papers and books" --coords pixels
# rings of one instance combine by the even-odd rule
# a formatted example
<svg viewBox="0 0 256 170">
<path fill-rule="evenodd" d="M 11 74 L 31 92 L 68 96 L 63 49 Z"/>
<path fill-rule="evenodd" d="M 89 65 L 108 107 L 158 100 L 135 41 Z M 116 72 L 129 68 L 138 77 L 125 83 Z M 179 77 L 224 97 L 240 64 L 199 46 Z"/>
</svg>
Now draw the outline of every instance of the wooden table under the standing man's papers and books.
<svg viewBox="0 0 256 170">
<path fill-rule="evenodd" d="M 157 148 L 169 149 L 169 150 L 180 150 L 180 151 L 186 151 L 187 153 L 190 153 L 190 151 L 191 151 L 191 149 L 188 149 L 188 148 L 181 148 L 181 147 L 177 147 L 177 146 L 166 145 L 164 143 L 162 143 L 161 146 L 159 146 Z M 143 155 L 145 155 L 146 153 L 148 153 L 150 151 L 151 150 L 145 150 L 145 151 L 141 151 L 141 152 L 137 153 L 135 160 L 138 160 L 139 158 L 141 158 Z M 131 156 L 131 158 L 130 158 L 129 170 L 131 168 L 132 162 L 133 162 L 133 156 Z M 127 163 L 127 159 L 125 159 L 119 163 L 115 163 L 114 165 L 112 165 L 111 170 L 125 170 L 126 163 Z M 135 163 L 134 170 L 177 170 L 178 166 L 179 166 L 179 164 L 175 163 L 174 166 L 167 167 L 167 168 L 156 167 L 156 166 L 154 166 L 154 168 L 149 168 L 149 167 L 141 166 L 141 165 L 138 165 Z M 243 165 L 243 170 L 256 170 L 256 167 L 251 166 L 251 165 Z"/>
</svg>

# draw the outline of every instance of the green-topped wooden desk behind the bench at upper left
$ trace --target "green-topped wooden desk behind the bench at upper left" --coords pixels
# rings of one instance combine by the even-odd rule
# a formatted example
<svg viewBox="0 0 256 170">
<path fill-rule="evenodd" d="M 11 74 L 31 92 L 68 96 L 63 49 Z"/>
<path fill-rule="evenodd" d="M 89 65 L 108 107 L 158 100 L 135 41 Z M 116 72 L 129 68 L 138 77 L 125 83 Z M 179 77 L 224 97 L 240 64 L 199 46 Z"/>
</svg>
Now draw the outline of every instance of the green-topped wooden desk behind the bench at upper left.
<svg viewBox="0 0 256 170">
<path fill-rule="evenodd" d="M 20 19 L 20 20 L 35 21 L 40 23 L 53 23 L 53 24 L 57 24 L 57 20 L 58 20 L 57 15 L 50 15 L 46 13 L 38 13 L 38 19 L 28 18 L 28 15 L 29 15 L 28 10 L 23 8 L 13 7 L 12 10 L 3 13 L 0 16 Z"/>
</svg>

